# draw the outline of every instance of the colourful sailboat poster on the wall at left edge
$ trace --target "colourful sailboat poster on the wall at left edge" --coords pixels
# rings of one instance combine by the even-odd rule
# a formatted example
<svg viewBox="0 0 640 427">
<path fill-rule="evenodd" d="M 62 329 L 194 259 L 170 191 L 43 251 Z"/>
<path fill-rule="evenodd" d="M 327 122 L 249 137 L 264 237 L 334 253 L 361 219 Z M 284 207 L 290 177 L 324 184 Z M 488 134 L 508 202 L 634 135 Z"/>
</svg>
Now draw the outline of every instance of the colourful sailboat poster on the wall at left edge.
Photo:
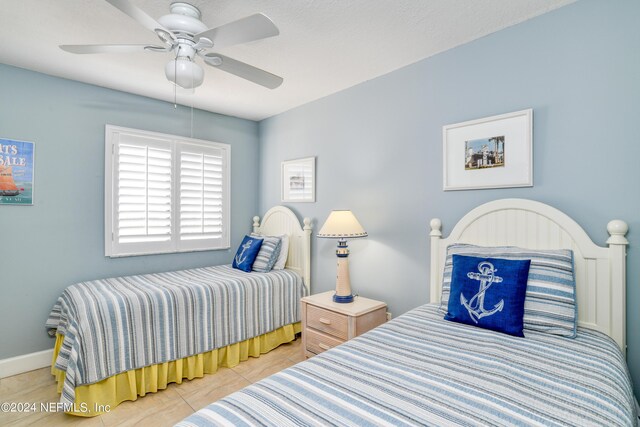
<svg viewBox="0 0 640 427">
<path fill-rule="evenodd" d="M 33 142 L 0 138 L 0 205 L 33 205 Z"/>
</svg>

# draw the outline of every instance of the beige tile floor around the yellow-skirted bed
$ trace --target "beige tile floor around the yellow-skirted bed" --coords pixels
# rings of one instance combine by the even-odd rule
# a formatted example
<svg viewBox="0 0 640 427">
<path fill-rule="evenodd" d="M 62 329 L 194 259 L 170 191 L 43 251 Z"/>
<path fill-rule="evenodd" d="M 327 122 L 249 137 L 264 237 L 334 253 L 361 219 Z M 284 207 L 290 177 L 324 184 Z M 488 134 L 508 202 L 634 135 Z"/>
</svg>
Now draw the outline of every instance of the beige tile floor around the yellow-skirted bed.
<svg viewBox="0 0 640 427">
<path fill-rule="evenodd" d="M 235 368 L 221 368 L 214 375 L 171 384 L 166 390 L 124 402 L 111 412 L 93 418 L 64 413 L 0 412 L 0 426 L 172 426 L 184 417 L 244 386 L 304 360 L 302 340 L 283 344 L 259 358 L 249 358 Z M 1 402 L 57 402 L 59 396 L 49 368 L 0 379 Z"/>
</svg>

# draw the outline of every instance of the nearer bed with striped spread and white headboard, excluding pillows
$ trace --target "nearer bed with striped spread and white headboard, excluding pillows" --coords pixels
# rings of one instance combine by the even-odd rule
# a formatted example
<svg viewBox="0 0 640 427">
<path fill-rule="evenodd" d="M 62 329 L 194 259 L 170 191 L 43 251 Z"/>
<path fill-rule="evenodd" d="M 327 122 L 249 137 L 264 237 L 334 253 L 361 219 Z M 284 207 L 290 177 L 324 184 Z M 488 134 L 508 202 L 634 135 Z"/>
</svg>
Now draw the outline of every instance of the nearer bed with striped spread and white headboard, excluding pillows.
<svg viewBox="0 0 640 427">
<path fill-rule="evenodd" d="M 201 409 L 178 425 L 636 425 L 625 363 L 627 226 L 595 245 L 564 213 L 504 199 L 448 238 L 431 221 L 431 303 Z M 443 319 L 450 247 L 571 249 L 574 338 L 516 337 Z M 528 286 L 528 285 L 527 285 Z"/>
</svg>

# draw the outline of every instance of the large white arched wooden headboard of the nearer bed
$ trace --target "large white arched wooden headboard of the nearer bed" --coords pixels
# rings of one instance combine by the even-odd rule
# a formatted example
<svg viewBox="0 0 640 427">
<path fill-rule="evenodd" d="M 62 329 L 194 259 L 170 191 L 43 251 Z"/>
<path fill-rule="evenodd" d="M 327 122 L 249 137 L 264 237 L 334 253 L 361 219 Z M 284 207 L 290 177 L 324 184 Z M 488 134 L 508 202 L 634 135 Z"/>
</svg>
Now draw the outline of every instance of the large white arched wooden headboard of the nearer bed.
<svg viewBox="0 0 640 427">
<path fill-rule="evenodd" d="M 502 199 L 467 213 L 446 239 L 442 222 L 431 220 L 430 299 L 439 302 L 447 246 L 519 246 L 528 249 L 572 249 L 576 275 L 578 325 L 613 338 L 626 350 L 626 245 L 628 226 L 613 220 L 607 225 L 609 247 L 593 243 L 565 213 L 544 203 Z"/>
</svg>

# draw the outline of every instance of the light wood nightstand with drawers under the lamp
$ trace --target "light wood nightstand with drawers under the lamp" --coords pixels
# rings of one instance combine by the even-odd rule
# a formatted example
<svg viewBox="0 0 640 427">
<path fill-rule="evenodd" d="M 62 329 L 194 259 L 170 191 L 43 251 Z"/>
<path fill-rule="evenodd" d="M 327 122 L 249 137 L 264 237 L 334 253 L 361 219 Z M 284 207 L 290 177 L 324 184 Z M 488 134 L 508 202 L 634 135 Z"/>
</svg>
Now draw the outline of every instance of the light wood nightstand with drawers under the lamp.
<svg viewBox="0 0 640 427">
<path fill-rule="evenodd" d="M 387 320 L 387 304 L 363 297 L 333 302 L 334 291 L 309 295 L 302 304 L 302 347 L 307 357 L 342 344 Z"/>
</svg>

